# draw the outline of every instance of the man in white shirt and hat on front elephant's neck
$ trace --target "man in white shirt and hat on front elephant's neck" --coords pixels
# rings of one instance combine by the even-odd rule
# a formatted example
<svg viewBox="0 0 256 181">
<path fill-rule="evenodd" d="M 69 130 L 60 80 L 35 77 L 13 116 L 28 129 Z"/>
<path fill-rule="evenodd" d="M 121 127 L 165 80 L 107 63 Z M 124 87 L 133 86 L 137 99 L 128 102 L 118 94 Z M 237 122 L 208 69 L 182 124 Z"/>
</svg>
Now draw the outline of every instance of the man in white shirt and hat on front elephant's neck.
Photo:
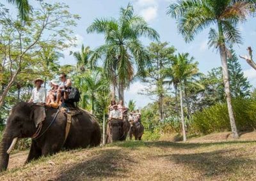
<svg viewBox="0 0 256 181">
<path fill-rule="evenodd" d="M 32 90 L 31 98 L 29 103 L 45 105 L 46 102 L 46 89 L 42 87 L 44 80 L 42 78 L 36 78 L 34 80 L 36 87 Z"/>
</svg>

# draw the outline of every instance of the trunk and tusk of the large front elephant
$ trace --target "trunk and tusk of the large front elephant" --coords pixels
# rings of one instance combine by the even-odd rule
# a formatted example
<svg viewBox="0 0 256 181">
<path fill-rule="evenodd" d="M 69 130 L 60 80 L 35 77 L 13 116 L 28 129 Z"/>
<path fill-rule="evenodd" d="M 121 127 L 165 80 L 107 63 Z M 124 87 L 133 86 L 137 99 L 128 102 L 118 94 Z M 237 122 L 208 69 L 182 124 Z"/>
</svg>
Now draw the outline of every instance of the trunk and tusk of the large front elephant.
<svg viewBox="0 0 256 181">
<path fill-rule="evenodd" d="M 8 135 L 6 131 L 4 131 L 3 134 L 3 140 L 1 142 L 0 146 L 0 171 L 4 171 L 7 169 L 8 162 L 9 162 L 9 154 L 10 152 L 7 152 L 12 150 L 12 148 L 15 146 L 15 143 L 17 141 L 17 138 L 12 138 L 12 136 Z"/>
</svg>

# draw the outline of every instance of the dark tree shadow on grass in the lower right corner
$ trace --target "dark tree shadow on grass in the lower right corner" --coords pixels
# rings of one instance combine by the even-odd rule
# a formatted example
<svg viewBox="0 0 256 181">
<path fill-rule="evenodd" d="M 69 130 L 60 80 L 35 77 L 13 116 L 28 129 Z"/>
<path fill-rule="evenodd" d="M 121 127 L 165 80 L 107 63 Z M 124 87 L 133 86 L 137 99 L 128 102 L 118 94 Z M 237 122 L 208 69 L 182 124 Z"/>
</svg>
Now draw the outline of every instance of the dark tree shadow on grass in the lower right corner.
<svg viewBox="0 0 256 181">
<path fill-rule="evenodd" d="M 200 171 L 205 177 L 228 177 L 243 169 L 252 168 L 255 160 L 237 156 L 239 149 L 218 150 L 198 154 L 168 154 L 159 156 L 176 164 L 189 166 L 191 170 Z M 244 174 L 243 174 L 244 175 Z"/>
</svg>

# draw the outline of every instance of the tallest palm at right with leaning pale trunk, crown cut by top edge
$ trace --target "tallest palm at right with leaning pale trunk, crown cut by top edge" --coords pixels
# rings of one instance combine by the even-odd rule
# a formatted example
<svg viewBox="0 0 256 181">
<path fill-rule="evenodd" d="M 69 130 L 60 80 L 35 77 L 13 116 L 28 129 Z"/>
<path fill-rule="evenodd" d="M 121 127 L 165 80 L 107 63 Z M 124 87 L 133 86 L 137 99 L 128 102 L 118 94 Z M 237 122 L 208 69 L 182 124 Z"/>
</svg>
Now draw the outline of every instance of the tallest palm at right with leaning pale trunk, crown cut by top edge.
<svg viewBox="0 0 256 181">
<path fill-rule="evenodd" d="M 168 14 L 177 19 L 179 32 L 185 41 L 192 41 L 196 34 L 210 25 L 217 25 L 217 47 L 220 50 L 223 82 L 228 105 L 228 115 L 234 138 L 238 138 L 236 122 L 231 105 L 227 69 L 227 44 L 241 43 L 237 24 L 246 20 L 255 8 L 255 0 L 183 0 L 173 3 Z M 211 29 L 210 36 L 215 30 Z"/>
</svg>

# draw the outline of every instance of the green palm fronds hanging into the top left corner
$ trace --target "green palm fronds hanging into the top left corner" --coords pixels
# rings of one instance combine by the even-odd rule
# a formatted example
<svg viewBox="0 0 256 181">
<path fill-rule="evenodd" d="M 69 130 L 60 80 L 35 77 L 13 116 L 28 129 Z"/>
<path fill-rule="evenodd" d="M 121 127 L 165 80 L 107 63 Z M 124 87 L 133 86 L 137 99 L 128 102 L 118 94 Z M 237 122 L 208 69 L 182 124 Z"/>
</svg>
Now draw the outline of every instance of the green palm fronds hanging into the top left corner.
<svg viewBox="0 0 256 181">
<path fill-rule="evenodd" d="M 28 14 L 32 10 L 28 0 L 7 0 L 7 2 L 17 6 L 22 20 L 28 20 Z"/>
</svg>

